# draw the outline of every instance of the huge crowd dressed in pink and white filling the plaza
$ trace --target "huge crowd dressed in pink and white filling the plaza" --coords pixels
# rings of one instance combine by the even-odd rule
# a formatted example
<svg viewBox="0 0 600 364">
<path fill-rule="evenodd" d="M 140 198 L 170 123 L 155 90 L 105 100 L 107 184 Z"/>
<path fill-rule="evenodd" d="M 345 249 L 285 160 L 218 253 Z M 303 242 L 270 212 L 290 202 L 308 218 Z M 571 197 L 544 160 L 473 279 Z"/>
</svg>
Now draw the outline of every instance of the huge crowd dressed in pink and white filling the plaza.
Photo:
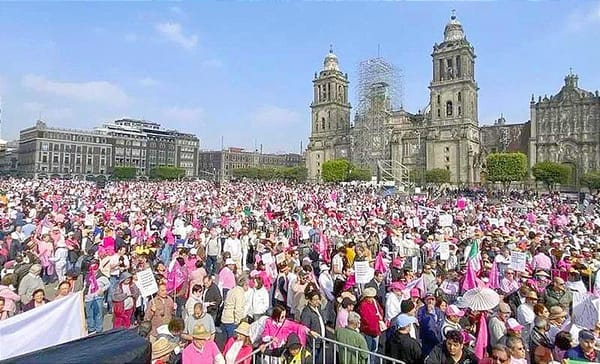
<svg viewBox="0 0 600 364">
<path fill-rule="evenodd" d="M 88 333 L 135 328 L 154 363 L 600 362 L 593 197 L 433 197 L 4 180 L 0 320 L 82 291 Z"/>
</svg>

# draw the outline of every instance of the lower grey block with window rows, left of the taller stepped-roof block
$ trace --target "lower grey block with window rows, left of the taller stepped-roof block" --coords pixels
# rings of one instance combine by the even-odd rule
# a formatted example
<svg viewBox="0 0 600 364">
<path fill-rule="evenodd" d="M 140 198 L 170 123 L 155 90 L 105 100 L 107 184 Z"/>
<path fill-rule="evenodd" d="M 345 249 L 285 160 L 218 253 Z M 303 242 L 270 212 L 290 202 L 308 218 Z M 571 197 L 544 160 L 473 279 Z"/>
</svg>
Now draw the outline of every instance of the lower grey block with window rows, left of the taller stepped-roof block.
<svg viewBox="0 0 600 364">
<path fill-rule="evenodd" d="M 43 121 L 19 136 L 19 172 L 40 177 L 110 174 L 110 137 L 98 131 L 50 128 Z"/>
</svg>

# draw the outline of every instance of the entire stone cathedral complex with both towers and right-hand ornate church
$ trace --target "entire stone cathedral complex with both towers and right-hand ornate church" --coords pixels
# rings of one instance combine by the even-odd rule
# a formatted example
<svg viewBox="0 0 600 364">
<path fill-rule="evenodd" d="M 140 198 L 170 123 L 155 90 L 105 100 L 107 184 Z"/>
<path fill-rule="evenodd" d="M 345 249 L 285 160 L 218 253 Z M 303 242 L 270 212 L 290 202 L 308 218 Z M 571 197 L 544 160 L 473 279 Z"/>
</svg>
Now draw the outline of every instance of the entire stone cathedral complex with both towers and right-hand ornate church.
<svg viewBox="0 0 600 364">
<path fill-rule="evenodd" d="M 575 172 L 574 184 L 582 173 L 600 168 L 600 97 L 598 92 L 580 89 L 577 76 L 569 74 L 556 96 L 537 102 L 532 98 L 531 120 L 506 124 L 501 117 L 493 125 L 480 126 L 475 50 L 454 14 L 431 57 L 427 107 L 414 114 L 386 108 L 386 102 L 378 98 L 381 85 L 374 84 L 376 100 L 371 108 L 380 105 L 383 111 L 377 115 L 382 117 L 375 120 L 377 132 L 361 142 L 366 123 L 358 113 L 354 124 L 350 122 L 348 75 L 340 70 L 330 49 L 323 70 L 313 79 L 306 153 L 310 180 L 319 181 L 322 164 L 338 158 L 374 173 L 382 167 L 373 159 L 389 160 L 390 168 L 406 175 L 446 169 L 452 183 L 468 185 L 484 181 L 485 156 L 491 152 L 523 152 L 530 166 L 546 160 L 568 164 Z M 368 160 L 365 155 L 375 157 Z"/>
</svg>

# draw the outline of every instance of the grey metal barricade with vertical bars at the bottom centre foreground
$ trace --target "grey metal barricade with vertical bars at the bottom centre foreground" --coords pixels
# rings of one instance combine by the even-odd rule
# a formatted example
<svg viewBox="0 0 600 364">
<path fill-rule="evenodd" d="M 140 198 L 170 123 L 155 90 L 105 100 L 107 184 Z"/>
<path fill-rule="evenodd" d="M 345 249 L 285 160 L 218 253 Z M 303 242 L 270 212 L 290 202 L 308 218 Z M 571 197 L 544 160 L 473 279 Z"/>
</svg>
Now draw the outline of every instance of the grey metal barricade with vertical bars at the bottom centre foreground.
<svg viewBox="0 0 600 364">
<path fill-rule="evenodd" d="M 363 350 L 339 341 L 319 337 L 308 337 L 306 347 L 311 355 L 312 364 L 405 364 L 403 361 L 388 356 Z M 247 356 L 240 358 L 235 364 L 242 364 L 252 358 L 252 364 L 279 364 L 279 358 L 265 355 L 258 348 Z"/>
</svg>

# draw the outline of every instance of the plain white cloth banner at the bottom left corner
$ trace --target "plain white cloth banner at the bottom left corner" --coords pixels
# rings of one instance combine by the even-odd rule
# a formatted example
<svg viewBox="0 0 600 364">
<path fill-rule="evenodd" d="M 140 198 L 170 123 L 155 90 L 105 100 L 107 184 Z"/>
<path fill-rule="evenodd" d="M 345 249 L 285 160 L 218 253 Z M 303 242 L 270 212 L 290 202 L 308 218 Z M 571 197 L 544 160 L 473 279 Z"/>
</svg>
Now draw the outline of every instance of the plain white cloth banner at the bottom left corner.
<svg viewBox="0 0 600 364">
<path fill-rule="evenodd" d="M 75 293 L 0 321 L 0 360 L 87 335 L 83 293 Z"/>
</svg>

